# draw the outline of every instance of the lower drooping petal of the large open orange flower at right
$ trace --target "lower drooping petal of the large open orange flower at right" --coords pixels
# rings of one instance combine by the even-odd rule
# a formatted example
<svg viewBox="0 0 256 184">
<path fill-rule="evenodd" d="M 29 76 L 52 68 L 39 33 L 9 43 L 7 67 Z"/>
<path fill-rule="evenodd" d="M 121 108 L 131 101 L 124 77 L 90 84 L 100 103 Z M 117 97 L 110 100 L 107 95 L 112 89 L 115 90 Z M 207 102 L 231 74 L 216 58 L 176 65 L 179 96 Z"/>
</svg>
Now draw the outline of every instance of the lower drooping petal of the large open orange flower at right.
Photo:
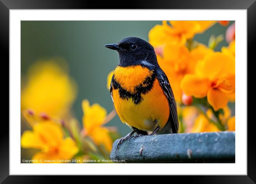
<svg viewBox="0 0 256 184">
<path fill-rule="evenodd" d="M 225 108 L 227 106 L 228 96 L 220 90 L 210 88 L 207 93 L 207 100 L 213 109 L 218 111 L 218 109 Z"/>
</svg>

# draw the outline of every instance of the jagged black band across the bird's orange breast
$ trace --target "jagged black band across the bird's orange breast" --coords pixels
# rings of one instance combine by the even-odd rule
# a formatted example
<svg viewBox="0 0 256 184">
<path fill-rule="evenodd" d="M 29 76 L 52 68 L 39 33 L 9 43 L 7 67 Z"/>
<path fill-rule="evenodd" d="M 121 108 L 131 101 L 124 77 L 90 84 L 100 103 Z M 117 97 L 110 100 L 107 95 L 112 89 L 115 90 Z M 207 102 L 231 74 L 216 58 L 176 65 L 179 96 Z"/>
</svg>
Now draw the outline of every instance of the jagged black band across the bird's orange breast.
<svg viewBox="0 0 256 184">
<path fill-rule="evenodd" d="M 143 83 L 141 83 L 140 85 L 136 86 L 134 88 L 134 94 L 126 91 L 124 88 L 121 87 L 120 83 L 118 83 L 115 80 L 115 76 L 113 75 L 112 77 L 112 86 L 115 90 L 119 90 L 119 97 L 121 99 L 128 99 L 132 98 L 132 101 L 134 102 L 134 104 L 139 104 L 143 101 L 143 98 L 141 96 L 141 94 L 147 94 L 153 87 L 153 83 L 154 80 L 156 79 L 156 72 L 153 71 L 151 76 L 148 76 L 145 78 L 145 80 L 143 81 Z"/>
</svg>

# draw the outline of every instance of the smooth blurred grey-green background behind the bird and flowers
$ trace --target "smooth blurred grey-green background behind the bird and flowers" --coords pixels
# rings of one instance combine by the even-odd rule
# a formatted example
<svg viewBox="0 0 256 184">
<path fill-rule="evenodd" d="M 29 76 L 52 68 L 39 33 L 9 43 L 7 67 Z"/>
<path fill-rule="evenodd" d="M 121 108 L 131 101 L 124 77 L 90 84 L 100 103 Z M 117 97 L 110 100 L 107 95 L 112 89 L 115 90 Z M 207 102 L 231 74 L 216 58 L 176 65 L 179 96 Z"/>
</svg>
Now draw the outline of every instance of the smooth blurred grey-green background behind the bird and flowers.
<svg viewBox="0 0 256 184">
<path fill-rule="evenodd" d="M 233 21 L 230 21 L 229 25 Z M 118 53 L 104 47 L 125 37 L 136 36 L 148 41 L 148 32 L 161 21 L 21 21 L 21 76 L 31 63 L 44 58 L 62 57 L 78 84 L 78 97 L 74 103 L 74 116 L 82 122 L 81 102 L 99 103 L 113 109 L 112 99 L 106 87 L 108 73 L 118 65 Z M 226 26 L 215 24 L 195 40 L 204 44 L 212 34 L 225 36 Z M 224 40 L 216 47 L 220 51 L 227 46 Z M 108 126 L 117 126 L 124 136 L 131 129 L 121 123 L 118 116 Z"/>
</svg>

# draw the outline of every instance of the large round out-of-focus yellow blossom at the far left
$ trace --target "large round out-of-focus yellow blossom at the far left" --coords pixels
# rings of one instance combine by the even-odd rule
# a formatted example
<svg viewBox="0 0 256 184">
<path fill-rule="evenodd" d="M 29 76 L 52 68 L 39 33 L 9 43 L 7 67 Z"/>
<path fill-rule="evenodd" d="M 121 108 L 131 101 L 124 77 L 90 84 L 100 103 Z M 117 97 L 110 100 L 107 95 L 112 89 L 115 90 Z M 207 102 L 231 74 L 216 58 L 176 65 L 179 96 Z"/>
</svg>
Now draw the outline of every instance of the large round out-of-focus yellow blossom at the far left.
<svg viewBox="0 0 256 184">
<path fill-rule="evenodd" d="M 56 61 L 36 62 L 29 68 L 21 91 L 22 110 L 32 109 L 57 117 L 67 113 L 77 94 L 76 85 Z"/>
</svg>

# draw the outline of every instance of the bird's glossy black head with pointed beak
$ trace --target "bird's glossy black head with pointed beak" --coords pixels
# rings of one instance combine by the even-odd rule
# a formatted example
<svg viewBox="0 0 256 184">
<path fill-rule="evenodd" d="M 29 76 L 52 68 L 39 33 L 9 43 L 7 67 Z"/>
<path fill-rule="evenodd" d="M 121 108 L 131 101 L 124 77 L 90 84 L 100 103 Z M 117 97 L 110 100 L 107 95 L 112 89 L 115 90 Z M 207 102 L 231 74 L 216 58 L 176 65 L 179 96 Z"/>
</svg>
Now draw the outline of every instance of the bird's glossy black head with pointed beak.
<svg viewBox="0 0 256 184">
<path fill-rule="evenodd" d="M 105 47 L 118 51 L 120 66 L 158 66 L 153 46 L 140 38 L 128 37 L 119 41 L 117 44 L 108 44 Z"/>
</svg>

